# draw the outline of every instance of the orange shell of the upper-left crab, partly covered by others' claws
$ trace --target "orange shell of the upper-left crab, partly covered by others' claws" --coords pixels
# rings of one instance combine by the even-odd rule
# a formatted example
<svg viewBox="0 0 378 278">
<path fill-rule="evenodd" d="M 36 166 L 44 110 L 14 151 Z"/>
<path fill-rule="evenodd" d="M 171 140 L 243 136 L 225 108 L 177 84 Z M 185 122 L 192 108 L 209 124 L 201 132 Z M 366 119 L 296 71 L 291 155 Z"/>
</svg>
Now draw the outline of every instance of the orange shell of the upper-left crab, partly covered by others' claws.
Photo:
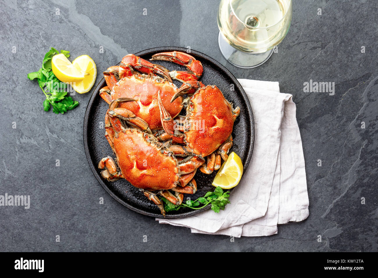
<svg viewBox="0 0 378 278">
<path fill-rule="evenodd" d="M 182 97 L 170 103 L 170 99 L 177 92 L 177 86 L 165 79 L 152 75 L 135 73 L 125 76 L 113 87 L 112 99 L 133 98 L 136 101 L 121 103 L 120 107 L 131 110 L 136 116 L 147 122 L 150 129 L 161 127 L 158 92 L 164 107 L 173 117 L 177 116 L 183 106 Z"/>
</svg>

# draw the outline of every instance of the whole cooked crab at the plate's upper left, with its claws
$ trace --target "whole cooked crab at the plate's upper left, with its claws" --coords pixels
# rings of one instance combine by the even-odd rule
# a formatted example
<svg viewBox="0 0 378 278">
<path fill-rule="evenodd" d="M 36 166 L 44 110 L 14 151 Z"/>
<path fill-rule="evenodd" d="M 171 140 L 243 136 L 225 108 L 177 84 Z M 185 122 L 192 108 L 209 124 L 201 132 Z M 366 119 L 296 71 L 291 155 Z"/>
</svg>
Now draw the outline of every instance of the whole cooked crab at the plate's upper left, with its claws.
<svg viewBox="0 0 378 278">
<path fill-rule="evenodd" d="M 152 64 L 141 57 L 129 54 L 123 57 L 119 66 L 113 66 L 104 71 L 107 86 L 100 90 L 101 97 L 108 104 L 118 98 L 135 99 L 136 101 L 132 103 L 122 103 L 121 107 L 129 109 L 136 116 L 146 121 L 150 129 L 160 128 L 158 92 L 164 96 L 164 107 L 170 115 L 175 117 L 180 113 L 183 106 L 181 104 L 181 96 L 174 102 L 169 101 L 178 93 L 178 88 L 172 83 L 171 76 L 184 81 L 196 80 L 202 74 L 201 62 L 187 53 L 176 51 L 158 53 L 153 55 L 152 58 L 152 60 L 167 59 L 180 65 L 186 65 L 189 71 L 173 71 L 169 73 L 161 65 Z M 156 74 L 163 76 L 163 78 L 156 76 Z"/>
</svg>

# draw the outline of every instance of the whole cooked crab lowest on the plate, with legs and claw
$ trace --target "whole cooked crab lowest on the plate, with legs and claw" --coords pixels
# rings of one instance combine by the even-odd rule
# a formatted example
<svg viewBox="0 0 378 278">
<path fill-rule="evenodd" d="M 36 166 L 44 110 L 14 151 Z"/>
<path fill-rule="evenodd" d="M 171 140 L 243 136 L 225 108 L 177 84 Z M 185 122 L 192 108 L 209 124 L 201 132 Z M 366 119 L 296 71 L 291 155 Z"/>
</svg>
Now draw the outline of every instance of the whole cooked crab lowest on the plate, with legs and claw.
<svg viewBox="0 0 378 278">
<path fill-rule="evenodd" d="M 194 194 L 197 191 L 193 177 L 204 160 L 192 155 L 178 161 L 164 144 L 150 134 L 144 120 L 130 110 L 119 107 L 120 103 L 131 101 L 134 100 L 120 98 L 110 104 L 105 115 L 105 137 L 116 155 L 117 163 L 107 156 L 102 158 L 98 167 L 104 169 L 101 175 L 105 179 L 115 181 L 124 178 L 140 188 L 165 215 L 156 194 L 176 205 L 181 204 L 183 193 Z M 121 120 L 138 128 L 125 127 Z"/>
</svg>

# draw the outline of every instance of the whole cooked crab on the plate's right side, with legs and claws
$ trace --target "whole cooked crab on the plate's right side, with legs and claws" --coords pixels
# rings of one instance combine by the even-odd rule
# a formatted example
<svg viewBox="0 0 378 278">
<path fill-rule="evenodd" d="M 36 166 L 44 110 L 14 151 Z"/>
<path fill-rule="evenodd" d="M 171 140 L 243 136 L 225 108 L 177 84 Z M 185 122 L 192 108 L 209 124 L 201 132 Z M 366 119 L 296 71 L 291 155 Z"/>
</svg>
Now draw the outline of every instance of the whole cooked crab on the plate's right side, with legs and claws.
<svg viewBox="0 0 378 278">
<path fill-rule="evenodd" d="M 179 90 L 171 100 L 174 101 L 184 92 L 191 93 L 198 88 L 190 98 L 186 108 L 186 117 L 181 120 L 182 125 L 177 125 L 172 119 L 164 107 L 163 99 L 158 95 L 161 121 L 168 137 L 176 141 L 179 141 L 177 138 L 183 138 L 186 144 L 186 147 L 172 145 L 169 149 L 176 155 L 207 156 L 208 163 L 200 170 L 210 174 L 214 169 L 220 168 L 221 156 L 224 160 L 228 158 L 227 153 L 232 147 L 232 128 L 240 109 L 239 107 L 234 109 L 217 86 L 204 86 L 198 81 L 191 82 L 189 85 L 190 88 Z M 178 133 L 177 129 L 184 133 Z M 214 151 L 217 151 L 216 154 Z"/>
</svg>

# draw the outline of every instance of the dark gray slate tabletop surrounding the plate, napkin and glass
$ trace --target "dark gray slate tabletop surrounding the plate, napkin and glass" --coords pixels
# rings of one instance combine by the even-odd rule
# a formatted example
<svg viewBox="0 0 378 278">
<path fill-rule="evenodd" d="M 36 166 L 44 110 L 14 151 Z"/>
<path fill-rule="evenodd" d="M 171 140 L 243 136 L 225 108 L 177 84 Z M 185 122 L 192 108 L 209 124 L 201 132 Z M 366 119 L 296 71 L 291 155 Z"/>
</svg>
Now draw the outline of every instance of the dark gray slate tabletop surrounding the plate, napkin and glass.
<svg viewBox="0 0 378 278">
<path fill-rule="evenodd" d="M 0 194 L 31 195 L 29 210 L 0 207 L 0 251 L 377 251 L 376 1 L 294 1 L 279 52 L 249 70 L 227 64 L 218 49 L 218 4 L 0 1 Z M 99 185 L 85 158 L 82 125 L 90 94 L 76 94 L 79 107 L 56 115 L 43 111 L 37 82 L 26 78 L 50 47 L 70 50 L 72 58 L 91 56 L 97 83 L 125 54 L 159 46 L 190 46 L 237 78 L 279 81 L 281 92 L 293 94 L 307 169 L 307 220 L 280 225 L 277 235 L 230 242 L 159 225 L 123 207 Z M 335 95 L 304 93 L 310 79 L 334 81 Z"/>
</svg>

